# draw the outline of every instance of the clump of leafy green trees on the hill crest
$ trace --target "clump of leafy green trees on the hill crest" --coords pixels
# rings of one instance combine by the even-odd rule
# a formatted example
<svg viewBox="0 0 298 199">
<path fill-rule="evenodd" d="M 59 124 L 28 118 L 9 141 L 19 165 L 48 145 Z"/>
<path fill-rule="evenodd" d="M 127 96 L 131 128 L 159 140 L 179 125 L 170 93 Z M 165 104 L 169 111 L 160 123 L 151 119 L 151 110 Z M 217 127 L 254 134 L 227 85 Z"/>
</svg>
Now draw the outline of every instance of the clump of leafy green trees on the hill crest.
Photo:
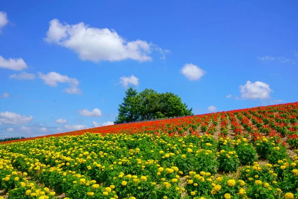
<svg viewBox="0 0 298 199">
<path fill-rule="evenodd" d="M 192 108 L 187 108 L 174 93 L 158 93 L 153 89 L 138 93 L 133 87 L 125 92 L 118 111 L 118 117 L 114 121 L 116 124 L 193 115 Z"/>
</svg>

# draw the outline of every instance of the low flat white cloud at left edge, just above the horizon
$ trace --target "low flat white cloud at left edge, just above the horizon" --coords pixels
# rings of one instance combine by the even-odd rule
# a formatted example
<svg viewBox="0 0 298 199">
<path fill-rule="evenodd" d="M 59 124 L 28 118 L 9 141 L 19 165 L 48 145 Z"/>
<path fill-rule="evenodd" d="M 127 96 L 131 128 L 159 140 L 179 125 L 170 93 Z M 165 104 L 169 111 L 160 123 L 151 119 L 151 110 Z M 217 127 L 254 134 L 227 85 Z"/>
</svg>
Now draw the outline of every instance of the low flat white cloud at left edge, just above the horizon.
<svg viewBox="0 0 298 199">
<path fill-rule="evenodd" d="M 0 125 L 2 124 L 25 124 L 29 123 L 33 117 L 30 115 L 29 117 L 26 117 L 25 115 L 19 115 L 14 112 L 0 112 Z"/>
</svg>

